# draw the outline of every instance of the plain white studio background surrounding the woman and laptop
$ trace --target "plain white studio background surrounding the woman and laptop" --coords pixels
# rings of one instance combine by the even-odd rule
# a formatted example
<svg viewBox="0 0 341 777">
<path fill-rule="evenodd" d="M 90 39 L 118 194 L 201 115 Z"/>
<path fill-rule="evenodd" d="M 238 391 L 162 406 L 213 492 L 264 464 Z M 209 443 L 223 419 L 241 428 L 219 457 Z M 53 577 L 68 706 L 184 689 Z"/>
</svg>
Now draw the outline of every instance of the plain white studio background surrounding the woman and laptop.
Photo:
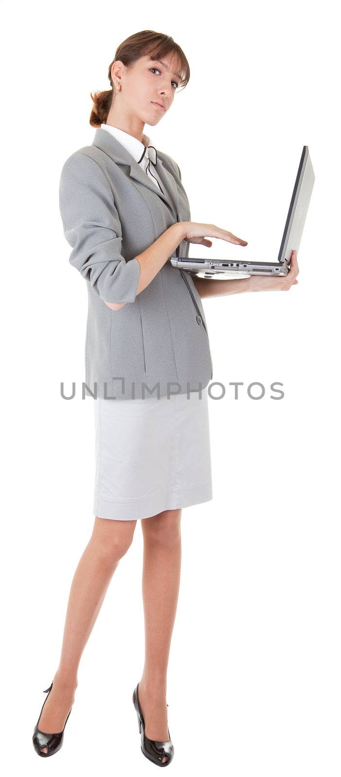
<svg viewBox="0 0 341 777">
<path fill-rule="evenodd" d="M 141 677 L 142 535 L 85 647 L 56 758 L 31 737 L 59 662 L 71 579 L 94 516 L 85 282 L 68 263 L 61 167 L 91 145 L 90 92 L 131 33 L 171 35 L 190 82 L 156 127 L 193 221 L 249 242 L 192 256 L 277 260 L 308 145 L 315 187 L 287 293 L 204 299 L 214 499 L 183 509 L 169 660 L 172 774 L 340 774 L 339 47 L 324 2 L 2 2 L 2 760 L 6 773 L 133 775 Z M 223 281 L 222 281 L 223 282 Z M 263 399 L 247 386 L 261 382 Z M 238 400 L 230 382 L 242 382 Z M 273 400 L 270 385 L 283 384 Z M 212 389 L 219 395 L 219 387 Z M 254 391 L 254 395 L 257 392 Z"/>
</svg>

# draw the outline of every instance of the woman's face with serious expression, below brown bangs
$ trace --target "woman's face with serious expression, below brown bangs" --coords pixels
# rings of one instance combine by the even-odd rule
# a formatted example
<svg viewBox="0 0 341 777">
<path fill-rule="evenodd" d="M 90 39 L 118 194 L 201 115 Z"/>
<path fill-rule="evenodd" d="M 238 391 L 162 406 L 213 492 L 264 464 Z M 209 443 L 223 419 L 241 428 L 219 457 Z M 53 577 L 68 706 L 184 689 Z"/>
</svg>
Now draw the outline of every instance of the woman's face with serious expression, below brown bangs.
<svg viewBox="0 0 341 777">
<path fill-rule="evenodd" d="M 115 63 L 117 75 L 113 71 L 114 82 L 118 80 L 121 84 L 117 96 L 127 112 L 131 111 L 151 127 L 158 124 L 169 110 L 180 83 L 176 58 L 172 61 L 169 55 L 162 57 L 162 62 L 164 64 L 151 60 L 149 56 L 140 57 L 129 68 L 125 68 L 121 62 Z M 164 107 L 159 108 L 155 103 L 161 103 Z"/>
</svg>

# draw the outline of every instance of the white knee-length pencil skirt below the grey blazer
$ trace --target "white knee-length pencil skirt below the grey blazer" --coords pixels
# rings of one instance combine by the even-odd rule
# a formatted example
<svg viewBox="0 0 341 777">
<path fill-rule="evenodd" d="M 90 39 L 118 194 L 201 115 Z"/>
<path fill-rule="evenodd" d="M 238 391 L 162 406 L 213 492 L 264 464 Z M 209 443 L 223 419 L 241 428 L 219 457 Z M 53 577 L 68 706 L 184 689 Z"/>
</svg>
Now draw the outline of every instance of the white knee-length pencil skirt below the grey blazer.
<svg viewBox="0 0 341 777">
<path fill-rule="evenodd" d="M 93 512 L 135 521 L 212 497 L 207 387 L 158 399 L 94 399 Z"/>
</svg>

